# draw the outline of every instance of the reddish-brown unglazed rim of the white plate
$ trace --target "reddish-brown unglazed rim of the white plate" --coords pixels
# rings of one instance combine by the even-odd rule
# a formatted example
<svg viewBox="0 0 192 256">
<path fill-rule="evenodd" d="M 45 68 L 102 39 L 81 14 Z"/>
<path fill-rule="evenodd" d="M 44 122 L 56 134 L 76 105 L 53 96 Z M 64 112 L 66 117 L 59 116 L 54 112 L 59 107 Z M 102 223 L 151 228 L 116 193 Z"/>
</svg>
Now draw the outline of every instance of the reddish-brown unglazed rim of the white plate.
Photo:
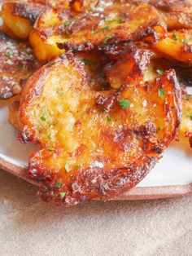
<svg viewBox="0 0 192 256">
<path fill-rule="evenodd" d="M 40 183 L 29 179 L 26 175 L 26 167 L 17 166 L 11 161 L 7 161 L 0 157 L 0 169 L 14 174 L 20 179 L 24 179 L 28 183 L 39 187 Z M 113 196 L 110 199 L 102 199 L 102 201 L 132 201 L 132 200 L 151 200 L 160 198 L 171 198 L 178 196 L 192 195 L 192 183 L 185 185 L 172 185 L 172 186 L 155 186 L 155 187 L 136 187 L 120 195 Z"/>
</svg>

